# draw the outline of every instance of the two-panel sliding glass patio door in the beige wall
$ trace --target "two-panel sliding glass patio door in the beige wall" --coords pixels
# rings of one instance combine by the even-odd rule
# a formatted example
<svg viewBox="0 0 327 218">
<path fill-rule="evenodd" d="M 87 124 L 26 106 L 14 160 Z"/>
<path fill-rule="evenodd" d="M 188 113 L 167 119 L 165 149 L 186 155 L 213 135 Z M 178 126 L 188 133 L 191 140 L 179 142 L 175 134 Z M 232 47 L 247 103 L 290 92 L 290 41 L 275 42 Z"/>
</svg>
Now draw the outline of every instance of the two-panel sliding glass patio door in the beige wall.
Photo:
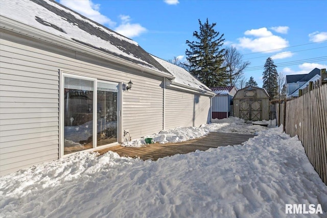
<svg viewBox="0 0 327 218">
<path fill-rule="evenodd" d="M 119 84 L 68 75 L 63 80 L 61 154 L 116 143 Z"/>
</svg>

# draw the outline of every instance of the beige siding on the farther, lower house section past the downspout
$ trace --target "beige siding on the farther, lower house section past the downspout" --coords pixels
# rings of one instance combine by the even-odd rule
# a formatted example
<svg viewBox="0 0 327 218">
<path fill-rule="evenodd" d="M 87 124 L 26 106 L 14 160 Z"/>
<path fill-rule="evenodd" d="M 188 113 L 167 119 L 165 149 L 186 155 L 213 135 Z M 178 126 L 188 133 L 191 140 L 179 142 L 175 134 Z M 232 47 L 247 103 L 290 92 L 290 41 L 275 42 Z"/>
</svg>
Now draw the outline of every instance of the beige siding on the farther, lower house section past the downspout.
<svg viewBox="0 0 327 218">
<path fill-rule="evenodd" d="M 165 129 L 199 127 L 207 123 L 210 109 L 208 96 L 166 89 Z"/>
</svg>

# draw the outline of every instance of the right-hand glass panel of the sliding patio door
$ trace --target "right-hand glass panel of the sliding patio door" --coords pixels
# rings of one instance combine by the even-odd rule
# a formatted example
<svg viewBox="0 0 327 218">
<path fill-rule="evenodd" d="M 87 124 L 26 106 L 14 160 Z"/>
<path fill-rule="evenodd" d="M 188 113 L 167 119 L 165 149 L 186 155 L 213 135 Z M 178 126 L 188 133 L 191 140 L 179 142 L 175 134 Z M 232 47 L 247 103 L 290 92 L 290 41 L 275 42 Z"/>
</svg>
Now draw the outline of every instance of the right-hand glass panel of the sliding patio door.
<svg viewBox="0 0 327 218">
<path fill-rule="evenodd" d="M 118 83 L 98 82 L 97 146 L 117 142 Z"/>
</svg>

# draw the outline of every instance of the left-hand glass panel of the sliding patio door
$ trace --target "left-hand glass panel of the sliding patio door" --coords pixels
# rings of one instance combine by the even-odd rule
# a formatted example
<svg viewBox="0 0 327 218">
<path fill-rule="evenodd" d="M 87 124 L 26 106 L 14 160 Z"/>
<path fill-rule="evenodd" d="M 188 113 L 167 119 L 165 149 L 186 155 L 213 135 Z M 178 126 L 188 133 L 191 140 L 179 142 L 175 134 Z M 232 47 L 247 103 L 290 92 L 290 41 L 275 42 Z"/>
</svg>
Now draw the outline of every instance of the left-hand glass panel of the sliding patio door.
<svg viewBox="0 0 327 218">
<path fill-rule="evenodd" d="M 94 81 L 64 78 L 64 155 L 93 148 Z"/>
</svg>

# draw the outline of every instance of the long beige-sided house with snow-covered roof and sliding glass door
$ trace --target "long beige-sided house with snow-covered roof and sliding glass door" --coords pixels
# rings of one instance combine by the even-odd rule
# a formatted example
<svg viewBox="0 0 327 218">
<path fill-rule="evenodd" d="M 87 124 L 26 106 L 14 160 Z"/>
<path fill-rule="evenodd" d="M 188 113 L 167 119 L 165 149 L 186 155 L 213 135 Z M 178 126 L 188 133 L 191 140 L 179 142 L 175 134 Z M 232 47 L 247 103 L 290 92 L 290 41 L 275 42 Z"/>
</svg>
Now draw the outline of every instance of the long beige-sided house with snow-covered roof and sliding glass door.
<svg viewBox="0 0 327 218">
<path fill-rule="evenodd" d="M 0 174 L 207 123 L 186 70 L 54 1 L 1 2 Z"/>
</svg>

